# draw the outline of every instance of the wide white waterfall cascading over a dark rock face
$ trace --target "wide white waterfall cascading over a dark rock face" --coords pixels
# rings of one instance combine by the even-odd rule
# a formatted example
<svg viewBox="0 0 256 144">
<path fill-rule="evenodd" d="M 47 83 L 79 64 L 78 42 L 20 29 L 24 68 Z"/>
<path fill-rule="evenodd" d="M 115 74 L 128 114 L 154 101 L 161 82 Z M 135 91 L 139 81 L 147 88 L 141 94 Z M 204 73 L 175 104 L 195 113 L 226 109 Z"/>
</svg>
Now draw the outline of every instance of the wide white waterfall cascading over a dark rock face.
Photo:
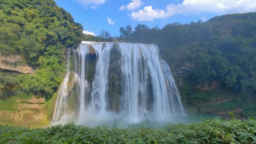
<svg viewBox="0 0 256 144">
<path fill-rule="evenodd" d="M 170 121 L 184 110 L 156 45 L 89 43 L 67 49 L 54 124 L 97 126 Z"/>
</svg>

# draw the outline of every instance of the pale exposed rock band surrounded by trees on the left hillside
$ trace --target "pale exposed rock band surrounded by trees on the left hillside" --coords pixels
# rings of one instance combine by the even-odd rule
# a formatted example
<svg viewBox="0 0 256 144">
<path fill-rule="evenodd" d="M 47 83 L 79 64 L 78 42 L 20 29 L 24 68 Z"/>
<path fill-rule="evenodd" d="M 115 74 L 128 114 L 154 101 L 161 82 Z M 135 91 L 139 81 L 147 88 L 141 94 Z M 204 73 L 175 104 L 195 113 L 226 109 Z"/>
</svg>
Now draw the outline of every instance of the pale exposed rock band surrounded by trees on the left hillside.
<svg viewBox="0 0 256 144">
<path fill-rule="evenodd" d="M 4 56 L 0 54 L 0 69 L 20 73 L 34 73 L 35 70 L 24 63 L 22 57 L 18 54 Z"/>
</svg>

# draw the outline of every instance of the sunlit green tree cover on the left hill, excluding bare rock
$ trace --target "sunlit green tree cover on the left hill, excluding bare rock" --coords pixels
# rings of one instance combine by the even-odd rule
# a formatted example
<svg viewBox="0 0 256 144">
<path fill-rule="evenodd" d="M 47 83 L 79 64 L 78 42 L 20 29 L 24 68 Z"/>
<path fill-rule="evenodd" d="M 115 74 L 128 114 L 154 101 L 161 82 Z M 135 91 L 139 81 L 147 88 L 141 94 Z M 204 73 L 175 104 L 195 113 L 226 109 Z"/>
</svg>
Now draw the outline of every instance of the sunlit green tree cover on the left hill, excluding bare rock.
<svg viewBox="0 0 256 144">
<path fill-rule="evenodd" d="M 0 0 L 0 54 L 21 55 L 37 69 L 18 76 L 1 71 L 0 98 L 1 91 L 14 87 L 10 91 L 19 95 L 51 97 L 65 71 L 65 48 L 81 38 L 82 25 L 54 0 Z"/>
</svg>

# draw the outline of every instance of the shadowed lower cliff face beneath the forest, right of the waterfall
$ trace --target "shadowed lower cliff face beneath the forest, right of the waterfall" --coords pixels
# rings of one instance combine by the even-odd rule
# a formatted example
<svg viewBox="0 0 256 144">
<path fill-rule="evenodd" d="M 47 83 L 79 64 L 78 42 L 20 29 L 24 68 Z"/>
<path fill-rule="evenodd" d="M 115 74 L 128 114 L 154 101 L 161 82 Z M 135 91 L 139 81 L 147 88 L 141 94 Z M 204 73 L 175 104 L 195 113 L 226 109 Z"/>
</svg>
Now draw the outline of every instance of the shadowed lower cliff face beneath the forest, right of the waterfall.
<svg viewBox="0 0 256 144">
<path fill-rule="evenodd" d="M 229 118 L 231 111 L 237 118 L 256 116 L 256 97 L 252 91 L 239 93 L 223 89 L 218 81 L 192 85 L 185 78 L 191 69 L 192 65 L 186 64 L 174 71 L 188 113 L 216 114 Z"/>
</svg>

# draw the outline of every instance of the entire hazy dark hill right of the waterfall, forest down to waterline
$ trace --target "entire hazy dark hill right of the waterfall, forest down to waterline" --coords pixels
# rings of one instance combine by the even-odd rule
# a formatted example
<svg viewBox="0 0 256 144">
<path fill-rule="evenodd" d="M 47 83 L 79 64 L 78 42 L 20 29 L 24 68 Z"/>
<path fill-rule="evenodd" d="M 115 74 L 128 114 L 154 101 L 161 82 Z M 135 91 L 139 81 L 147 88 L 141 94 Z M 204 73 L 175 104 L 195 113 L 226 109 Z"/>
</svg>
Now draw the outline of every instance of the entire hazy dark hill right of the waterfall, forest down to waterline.
<svg viewBox="0 0 256 144">
<path fill-rule="evenodd" d="M 183 101 L 189 105 L 201 107 L 201 103 L 201 112 L 211 112 L 213 107 L 242 107 L 256 115 L 256 13 L 230 14 L 184 25 L 173 23 L 163 29 L 138 25 L 130 35 L 126 31 L 120 28 L 127 42 L 159 46 L 161 56 L 175 73 L 186 99 Z M 194 99 L 197 102 L 192 102 Z"/>
</svg>

